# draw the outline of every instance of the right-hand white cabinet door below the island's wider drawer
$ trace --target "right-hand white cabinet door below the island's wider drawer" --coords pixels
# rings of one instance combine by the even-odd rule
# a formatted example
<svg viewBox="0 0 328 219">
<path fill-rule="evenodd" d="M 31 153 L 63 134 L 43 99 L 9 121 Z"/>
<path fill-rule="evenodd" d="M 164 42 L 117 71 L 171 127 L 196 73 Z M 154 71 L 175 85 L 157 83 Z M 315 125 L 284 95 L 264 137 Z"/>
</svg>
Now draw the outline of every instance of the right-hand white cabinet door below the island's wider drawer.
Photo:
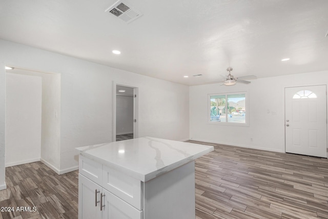
<svg viewBox="0 0 328 219">
<path fill-rule="evenodd" d="M 103 189 L 103 219 L 142 219 L 143 211 L 121 200 L 116 195 Z M 104 201 L 105 200 L 105 201 Z"/>
</svg>

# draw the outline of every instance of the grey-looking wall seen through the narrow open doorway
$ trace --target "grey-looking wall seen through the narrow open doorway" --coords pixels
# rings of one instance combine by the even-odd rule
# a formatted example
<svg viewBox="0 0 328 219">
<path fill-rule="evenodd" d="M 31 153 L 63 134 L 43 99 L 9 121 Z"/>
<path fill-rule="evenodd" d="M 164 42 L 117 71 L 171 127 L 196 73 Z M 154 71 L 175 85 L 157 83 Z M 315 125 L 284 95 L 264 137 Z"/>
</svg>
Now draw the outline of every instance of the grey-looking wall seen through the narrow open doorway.
<svg viewBox="0 0 328 219">
<path fill-rule="evenodd" d="M 133 96 L 116 95 L 116 134 L 133 133 Z"/>
</svg>

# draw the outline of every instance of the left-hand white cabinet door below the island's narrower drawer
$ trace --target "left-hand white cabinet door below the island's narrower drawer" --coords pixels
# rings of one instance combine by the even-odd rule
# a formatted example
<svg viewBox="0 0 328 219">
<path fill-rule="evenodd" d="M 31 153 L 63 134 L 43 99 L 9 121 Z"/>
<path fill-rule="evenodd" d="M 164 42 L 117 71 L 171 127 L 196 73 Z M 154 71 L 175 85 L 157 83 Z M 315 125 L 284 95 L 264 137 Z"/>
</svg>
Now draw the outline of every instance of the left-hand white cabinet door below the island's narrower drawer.
<svg viewBox="0 0 328 219">
<path fill-rule="evenodd" d="M 99 185 L 78 174 L 78 219 L 101 219 L 100 192 Z"/>
</svg>

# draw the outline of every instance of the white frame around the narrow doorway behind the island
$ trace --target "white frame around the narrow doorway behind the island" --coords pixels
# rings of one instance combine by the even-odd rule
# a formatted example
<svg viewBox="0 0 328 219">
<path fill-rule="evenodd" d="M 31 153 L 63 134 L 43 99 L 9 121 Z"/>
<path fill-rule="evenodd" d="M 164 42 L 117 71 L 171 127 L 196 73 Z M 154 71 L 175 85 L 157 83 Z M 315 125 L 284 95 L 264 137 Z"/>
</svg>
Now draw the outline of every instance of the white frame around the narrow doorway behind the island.
<svg viewBox="0 0 328 219">
<path fill-rule="evenodd" d="M 133 122 L 133 138 L 137 138 L 139 136 L 139 130 L 138 130 L 138 90 L 139 88 L 135 85 L 124 83 L 124 82 L 116 82 L 113 81 L 113 126 L 112 126 L 112 136 L 113 142 L 116 142 L 116 86 L 124 86 L 124 87 L 130 87 L 133 88 L 133 120 L 136 122 Z"/>
</svg>

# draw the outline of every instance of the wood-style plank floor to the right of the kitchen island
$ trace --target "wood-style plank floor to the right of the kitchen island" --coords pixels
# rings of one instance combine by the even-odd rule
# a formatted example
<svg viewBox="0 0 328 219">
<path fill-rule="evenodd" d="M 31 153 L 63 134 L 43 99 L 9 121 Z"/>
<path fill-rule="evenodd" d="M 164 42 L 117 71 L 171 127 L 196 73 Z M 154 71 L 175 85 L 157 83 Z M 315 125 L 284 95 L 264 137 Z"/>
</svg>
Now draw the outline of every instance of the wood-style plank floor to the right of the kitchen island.
<svg viewBox="0 0 328 219">
<path fill-rule="evenodd" d="M 206 145 L 214 151 L 195 162 L 196 218 L 328 218 L 326 158 Z"/>
</svg>

